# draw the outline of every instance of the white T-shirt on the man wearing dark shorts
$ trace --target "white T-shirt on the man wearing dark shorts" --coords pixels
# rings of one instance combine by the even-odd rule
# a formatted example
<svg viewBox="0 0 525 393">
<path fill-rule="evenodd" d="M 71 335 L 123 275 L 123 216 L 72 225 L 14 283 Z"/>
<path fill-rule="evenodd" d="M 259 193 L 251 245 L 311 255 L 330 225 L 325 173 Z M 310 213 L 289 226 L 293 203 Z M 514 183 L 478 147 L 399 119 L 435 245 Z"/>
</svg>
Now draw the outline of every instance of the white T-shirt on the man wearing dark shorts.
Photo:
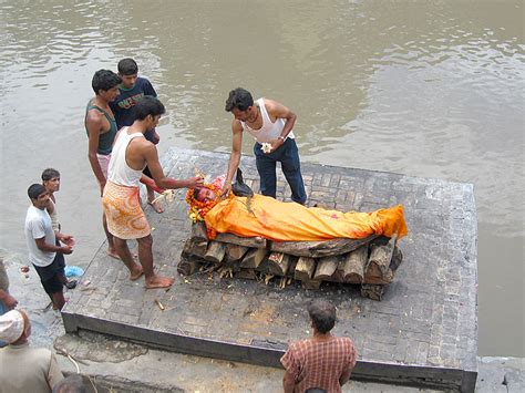
<svg viewBox="0 0 525 393">
<path fill-rule="evenodd" d="M 48 245 L 55 245 L 54 230 L 51 217 L 45 209 L 39 209 L 31 205 L 25 216 L 25 242 L 28 244 L 29 261 L 39 267 L 51 265 L 56 252 L 42 251 L 37 247 L 34 239 L 45 238 Z"/>
</svg>

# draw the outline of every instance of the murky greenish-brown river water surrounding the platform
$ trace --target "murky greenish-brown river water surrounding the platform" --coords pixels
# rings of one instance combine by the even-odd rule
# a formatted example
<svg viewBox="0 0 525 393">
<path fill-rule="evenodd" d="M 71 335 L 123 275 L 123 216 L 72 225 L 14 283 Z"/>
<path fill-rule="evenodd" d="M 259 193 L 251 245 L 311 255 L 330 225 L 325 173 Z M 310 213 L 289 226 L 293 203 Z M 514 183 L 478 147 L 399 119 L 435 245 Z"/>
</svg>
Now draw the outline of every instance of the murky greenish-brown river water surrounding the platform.
<svg viewBox="0 0 525 393">
<path fill-rule="evenodd" d="M 3 0 L 2 254 L 23 262 L 25 192 L 50 166 L 78 240 L 69 263 L 104 239 L 83 111 L 93 73 L 132 56 L 168 111 L 161 153 L 228 152 L 224 102 L 244 86 L 297 113 L 303 162 L 473 183 L 480 354 L 524 356 L 523 12 L 495 0 Z"/>
</svg>

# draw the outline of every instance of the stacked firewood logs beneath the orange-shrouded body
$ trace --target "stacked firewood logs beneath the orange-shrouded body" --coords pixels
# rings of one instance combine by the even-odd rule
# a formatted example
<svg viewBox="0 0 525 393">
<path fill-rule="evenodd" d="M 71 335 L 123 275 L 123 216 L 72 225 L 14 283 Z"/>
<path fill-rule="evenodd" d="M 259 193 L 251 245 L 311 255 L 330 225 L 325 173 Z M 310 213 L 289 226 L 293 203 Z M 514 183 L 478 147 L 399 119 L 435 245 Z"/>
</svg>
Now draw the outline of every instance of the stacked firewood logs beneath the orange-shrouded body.
<svg viewBox="0 0 525 393">
<path fill-rule="evenodd" d="M 243 279 L 280 279 L 284 288 L 298 280 L 307 289 L 322 281 L 360 285 L 363 297 L 381 300 L 403 256 L 397 238 L 372 235 L 364 239 L 270 241 L 260 237 L 218 234 L 209 240 L 203 223 L 192 226 L 177 270 L 189 276 L 217 270 Z"/>
</svg>

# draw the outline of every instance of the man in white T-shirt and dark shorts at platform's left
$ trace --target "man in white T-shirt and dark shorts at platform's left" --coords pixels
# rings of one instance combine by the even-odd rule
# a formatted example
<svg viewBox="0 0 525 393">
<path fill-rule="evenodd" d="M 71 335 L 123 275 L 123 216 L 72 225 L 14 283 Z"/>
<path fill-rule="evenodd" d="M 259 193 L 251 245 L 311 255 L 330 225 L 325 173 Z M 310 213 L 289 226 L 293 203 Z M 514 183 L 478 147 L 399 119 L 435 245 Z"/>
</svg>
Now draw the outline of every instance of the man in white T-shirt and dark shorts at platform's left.
<svg viewBox="0 0 525 393">
<path fill-rule="evenodd" d="M 61 232 L 54 232 L 51 217 L 45 207 L 49 194 L 41 184 L 33 184 L 28 189 L 31 206 L 25 215 L 25 241 L 29 250 L 29 261 L 37 270 L 42 287 L 53 302 L 53 308 L 62 309 L 65 303 L 63 287 L 60 280 L 61 267 L 59 256 L 73 252 L 73 238 Z M 56 246 L 56 239 L 64 246 Z"/>
</svg>

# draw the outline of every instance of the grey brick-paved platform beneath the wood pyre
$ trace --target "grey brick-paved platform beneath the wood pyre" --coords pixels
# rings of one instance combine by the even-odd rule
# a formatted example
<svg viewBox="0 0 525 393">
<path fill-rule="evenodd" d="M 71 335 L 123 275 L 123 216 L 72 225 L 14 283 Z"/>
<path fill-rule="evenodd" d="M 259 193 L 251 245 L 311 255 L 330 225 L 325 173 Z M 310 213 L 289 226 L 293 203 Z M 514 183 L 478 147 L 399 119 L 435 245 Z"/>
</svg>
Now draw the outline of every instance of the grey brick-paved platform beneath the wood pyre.
<svg viewBox="0 0 525 393">
<path fill-rule="evenodd" d="M 223 153 L 169 149 L 163 167 L 169 176 L 215 177 L 226 168 Z M 244 156 L 245 178 L 258 190 L 253 157 Z M 278 197 L 289 187 L 278 169 Z M 323 285 L 306 291 L 297 285 L 177 275 L 182 244 L 188 237 L 185 190 L 176 190 L 166 211 L 146 208 L 155 265 L 175 277 L 166 290 L 132 282 L 122 262 L 101 246 L 84 280 L 62 311 L 68 332 L 79 329 L 203 356 L 280 366 L 287 342 L 310 335 L 306 304 L 315 298 L 338 307 L 334 334 L 348 335 L 359 351 L 354 379 L 474 390 L 477 375 L 477 223 L 470 184 L 353 168 L 302 164 L 308 204 L 369 211 L 403 204 L 409 236 L 400 241 L 403 263 L 381 302 L 359 288 Z M 286 196 L 284 198 L 282 196 Z M 132 246 L 132 242 L 130 242 Z M 135 245 L 133 245 L 135 247 Z M 165 310 L 155 303 L 158 300 Z"/>
</svg>

